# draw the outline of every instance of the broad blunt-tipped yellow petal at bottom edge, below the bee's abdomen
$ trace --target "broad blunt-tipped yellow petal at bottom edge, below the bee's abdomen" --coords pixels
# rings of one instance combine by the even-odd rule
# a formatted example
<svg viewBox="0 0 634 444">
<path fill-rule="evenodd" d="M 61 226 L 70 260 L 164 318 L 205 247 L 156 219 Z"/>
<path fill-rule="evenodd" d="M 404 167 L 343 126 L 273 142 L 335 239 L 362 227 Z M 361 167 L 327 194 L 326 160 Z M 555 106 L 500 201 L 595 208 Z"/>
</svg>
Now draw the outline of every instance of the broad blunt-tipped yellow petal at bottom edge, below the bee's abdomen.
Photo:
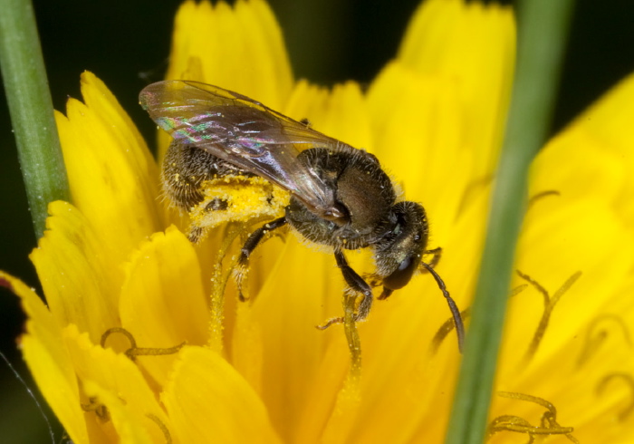
<svg viewBox="0 0 634 444">
<path fill-rule="evenodd" d="M 161 395 L 181 442 L 279 442 L 264 404 L 216 352 L 186 347 Z"/>
</svg>

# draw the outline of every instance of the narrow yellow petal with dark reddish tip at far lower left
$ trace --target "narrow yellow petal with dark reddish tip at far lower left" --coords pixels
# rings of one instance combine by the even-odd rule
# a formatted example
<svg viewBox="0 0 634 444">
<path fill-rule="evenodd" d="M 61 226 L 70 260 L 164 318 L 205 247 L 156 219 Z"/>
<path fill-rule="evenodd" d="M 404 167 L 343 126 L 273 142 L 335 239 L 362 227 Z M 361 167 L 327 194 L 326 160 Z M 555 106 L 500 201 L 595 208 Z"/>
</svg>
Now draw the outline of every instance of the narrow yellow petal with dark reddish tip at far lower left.
<svg viewBox="0 0 634 444">
<path fill-rule="evenodd" d="M 28 316 L 21 347 L 34 380 L 55 416 L 74 442 L 88 442 L 88 431 L 79 404 L 79 388 L 71 358 L 62 340 L 62 329 L 42 300 L 22 281 L 0 272 L 0 285 L 20 297 Z"/>
</svg>

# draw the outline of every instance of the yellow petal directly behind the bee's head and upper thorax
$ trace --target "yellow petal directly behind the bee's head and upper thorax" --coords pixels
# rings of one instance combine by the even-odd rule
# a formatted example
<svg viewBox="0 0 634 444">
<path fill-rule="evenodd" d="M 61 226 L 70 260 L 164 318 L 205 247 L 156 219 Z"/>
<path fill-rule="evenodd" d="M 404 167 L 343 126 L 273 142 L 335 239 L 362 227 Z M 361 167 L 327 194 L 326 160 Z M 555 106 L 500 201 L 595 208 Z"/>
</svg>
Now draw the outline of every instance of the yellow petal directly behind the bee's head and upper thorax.
<svg viewBox="0 0 634 444">
<path fill-rule="evenodd" d="M 402 63 L 389 63 L 368 94 L 375 153 L 405 198 L 422 202 L 434 236 L 447 238 L 465 189 L 474 155 L 466 137 L 464 110 L 453 82 L 421 77 Z"/>
</svg>

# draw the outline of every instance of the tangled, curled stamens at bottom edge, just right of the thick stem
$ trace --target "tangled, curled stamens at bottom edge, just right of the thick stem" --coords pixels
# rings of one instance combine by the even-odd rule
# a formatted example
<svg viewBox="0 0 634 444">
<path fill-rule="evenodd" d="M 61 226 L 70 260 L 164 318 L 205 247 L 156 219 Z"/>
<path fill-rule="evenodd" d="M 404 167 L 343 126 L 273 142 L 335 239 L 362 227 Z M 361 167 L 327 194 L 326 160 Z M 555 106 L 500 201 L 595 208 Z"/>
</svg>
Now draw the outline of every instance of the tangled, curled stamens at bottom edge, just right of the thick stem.
<svg viewBox="0 0 634 444">
<path fill-rule="evenodd" d="M 572 431 L 574 431 L 572 427 L 562 427 L 557 423 L 557 410 L 551 402 L 536 396 L 514 393 L 512 391 L 498 391 L 497 394 L 503 398 L 533 402 L 541 405 L 546 411 L 542 415 L 540 426 L 533 426 L 529 421 L 519 416 L 498 416 L 489 423 L 486 434 L 487 440 L 500 431 L 513 431 L 515 433 L 525 433 L 528 435 L 529 440 L 527 442 L 529 444 L 533 443 L 539 435 L 564 435 L 570 441 L 579 444 L 579 441 L 571 435 Z"/>
</svg>

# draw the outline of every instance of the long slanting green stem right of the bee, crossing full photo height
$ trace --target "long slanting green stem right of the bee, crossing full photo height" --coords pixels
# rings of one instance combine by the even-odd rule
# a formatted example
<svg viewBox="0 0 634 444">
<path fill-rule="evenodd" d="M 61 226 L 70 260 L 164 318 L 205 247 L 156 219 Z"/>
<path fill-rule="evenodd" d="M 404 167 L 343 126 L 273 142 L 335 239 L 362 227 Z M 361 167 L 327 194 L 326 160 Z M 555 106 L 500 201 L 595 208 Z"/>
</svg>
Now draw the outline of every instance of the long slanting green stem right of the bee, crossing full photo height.
<svg viewBox="0 0 634 444">
<path fill-rule="evenodd" d="M 551 120 L 573 3 L 524 0 L 519 5 L 513 99 L 446 444 L 479 444 L 485 439 L 528 168 Z"/>
</svg>

